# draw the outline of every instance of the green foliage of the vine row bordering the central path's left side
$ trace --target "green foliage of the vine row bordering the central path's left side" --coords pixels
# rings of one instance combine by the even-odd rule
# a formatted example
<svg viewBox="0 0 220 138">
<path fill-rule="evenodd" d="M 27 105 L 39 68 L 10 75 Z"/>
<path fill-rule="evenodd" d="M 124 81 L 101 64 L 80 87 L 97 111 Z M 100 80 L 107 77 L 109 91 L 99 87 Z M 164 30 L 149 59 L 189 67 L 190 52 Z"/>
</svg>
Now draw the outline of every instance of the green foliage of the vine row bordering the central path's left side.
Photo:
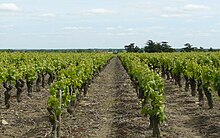
<svg viewBox="0 0 220 138">
<path fill-rule="evenodd" d="M 50 112 L 56 116 L 61 115 L 70 102 L 74 102 L 77 95 L 80 95 L 78 89 L 91 80 L 95 71 L 104 66 L 111 57 L 111 54 L 73 54 L 70 57 L 56 57 L 55 62 L 49 60 L 45 71 L 58 71 L 57 81 L 50 86 Z M 72 86 L 74 91 L 70 90 Z"/>
</svg>

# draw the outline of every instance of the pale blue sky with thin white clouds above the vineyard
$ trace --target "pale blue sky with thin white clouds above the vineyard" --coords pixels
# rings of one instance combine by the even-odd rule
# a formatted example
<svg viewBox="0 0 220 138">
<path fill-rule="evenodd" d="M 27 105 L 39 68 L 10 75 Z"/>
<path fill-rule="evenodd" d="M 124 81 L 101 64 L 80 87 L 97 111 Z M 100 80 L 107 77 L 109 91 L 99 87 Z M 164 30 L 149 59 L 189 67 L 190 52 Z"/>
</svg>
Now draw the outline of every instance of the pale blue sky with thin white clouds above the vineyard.
<svg viewBox="0 0 220 138">
<path fill-rule="evenodd" d="M 219 0 L 0 0 L 0 49 L 220 48 Z"/>
</svg>

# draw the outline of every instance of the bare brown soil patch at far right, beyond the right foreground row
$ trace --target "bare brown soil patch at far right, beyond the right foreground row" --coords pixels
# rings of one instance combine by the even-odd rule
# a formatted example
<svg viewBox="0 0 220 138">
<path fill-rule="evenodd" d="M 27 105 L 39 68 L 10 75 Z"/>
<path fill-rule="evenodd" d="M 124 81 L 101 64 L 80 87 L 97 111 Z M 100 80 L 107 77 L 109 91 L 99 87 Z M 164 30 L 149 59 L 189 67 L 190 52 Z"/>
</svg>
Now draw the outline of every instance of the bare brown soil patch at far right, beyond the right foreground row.
<svg viewBox="0 0 220 138">
<path fill-rule="evenodd" d="M 220 137 L 220 100 L 216 94 L 213 95 L 213 109 L 209 109 L 206 98 L 201 107 L 198 96 L 193 97 L 191 92 L 186 92 L 166 80 L 165 97 L 167 122 L 161 127 L 163 137 Z"/>
</svg>

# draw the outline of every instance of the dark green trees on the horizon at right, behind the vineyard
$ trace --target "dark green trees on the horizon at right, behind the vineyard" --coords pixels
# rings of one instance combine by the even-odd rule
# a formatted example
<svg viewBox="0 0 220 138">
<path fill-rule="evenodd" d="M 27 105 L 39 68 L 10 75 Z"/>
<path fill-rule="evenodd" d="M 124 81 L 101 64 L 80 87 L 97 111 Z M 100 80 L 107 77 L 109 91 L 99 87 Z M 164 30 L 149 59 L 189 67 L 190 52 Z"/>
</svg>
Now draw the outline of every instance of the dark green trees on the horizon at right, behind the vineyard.
<svg viewBox="0 0 220 138">
<path fill-rule="evenodd" d="M 193 47 L 190 43 L 185 43 L 184 48 L 181 48 L 180 50 L 177 50 L 175 48 L 172 48 L 170 44 L 166 41 L 162 42 L 154 42 L 153 40 L 148 40 L 145 43 L 145 47 L 140 48 L 135 45 L 135 43 L 130 43 L 129 45 L 124 46 L 125 50 L 127 52 L 135 52 L 135 53 L 142 53 L 142 52 L 148 52 L 148 53 L 153 53 L 153 52 L 205 52 L 205 51 L 219 51 L 215 49 L 204 49 L 203 47 Z"/>
</svg>

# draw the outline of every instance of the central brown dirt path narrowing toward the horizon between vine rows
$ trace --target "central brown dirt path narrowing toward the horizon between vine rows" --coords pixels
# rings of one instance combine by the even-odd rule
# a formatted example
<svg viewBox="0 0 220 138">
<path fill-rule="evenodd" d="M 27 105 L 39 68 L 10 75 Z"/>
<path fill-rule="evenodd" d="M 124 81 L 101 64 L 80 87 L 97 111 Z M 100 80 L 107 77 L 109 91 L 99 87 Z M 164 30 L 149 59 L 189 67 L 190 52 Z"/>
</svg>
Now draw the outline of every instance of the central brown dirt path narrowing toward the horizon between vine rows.
<svg viewBox="0 0 220 138">
<path fill-rule="evenodd" d="M 144 138 L 151 132 L 146 131 L 148 120 L 140 116 L 140 110 L 128 74 L 113 58 L 77 107 L 71 137 Z"/>
</svg>

